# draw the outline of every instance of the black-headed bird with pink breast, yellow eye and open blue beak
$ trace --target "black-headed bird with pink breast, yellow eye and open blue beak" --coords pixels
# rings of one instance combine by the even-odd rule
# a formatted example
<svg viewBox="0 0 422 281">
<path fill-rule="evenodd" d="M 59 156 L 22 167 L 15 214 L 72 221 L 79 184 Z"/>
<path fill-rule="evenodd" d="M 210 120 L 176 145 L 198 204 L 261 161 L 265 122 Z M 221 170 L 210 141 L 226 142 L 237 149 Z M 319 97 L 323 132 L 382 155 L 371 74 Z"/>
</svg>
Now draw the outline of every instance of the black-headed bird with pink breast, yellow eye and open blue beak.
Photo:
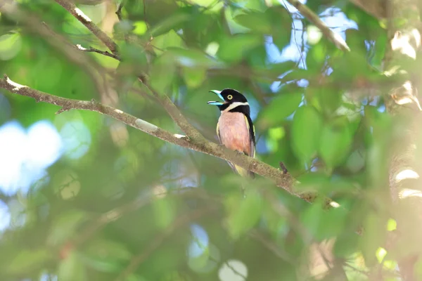
<svg viewBox="0 0 422 281">
<path fill-rule="evenodd" d="M 255 128 L 250 119 L 248 100 L 234 89 L 223 91 L 212 90 L 222 102 L 209 101 L 209 105 L 217 105 L 221 115 L 217 123 L 217 136 L 226 148 L 255 157 Z M 231 169 L 241 176 L 255 176 L 251 171 L 228 162 Z"/>
</svg>

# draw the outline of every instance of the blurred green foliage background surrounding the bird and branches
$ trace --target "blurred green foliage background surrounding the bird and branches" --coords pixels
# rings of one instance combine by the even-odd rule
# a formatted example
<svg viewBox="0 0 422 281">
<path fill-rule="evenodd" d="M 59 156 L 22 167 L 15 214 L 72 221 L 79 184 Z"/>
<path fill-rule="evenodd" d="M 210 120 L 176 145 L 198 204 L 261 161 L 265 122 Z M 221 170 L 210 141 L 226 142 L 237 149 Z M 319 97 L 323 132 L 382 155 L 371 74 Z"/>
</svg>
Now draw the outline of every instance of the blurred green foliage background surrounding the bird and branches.
<svg viewBox="0 0 422 281">
<path fill-rule="evenodd" d="M 383 22 L 349 1 L 302 1 L 345 39 L 343 52 L 286 1 L 128 0 L 122 20 L 113 1 L 82 1 L 122 63 L 82 51 L 77 63 L 25 18 L 53 38 L 106 47 L 53 1 L 14 2 L 24 17 L 1 11 L 1 73 L 181 133 L 137 81 L 147 72 L 212 141 L 219 113 L 207 92 L 237 89 L 251 104 L 257 157 L 337 204 L 245 181 L 221 159 L 96 112 L 55 115 L 0 90 L 1 280 L 399 280 L 402 253 L 385 250 L 399 122 L 373 90 L 390 86 L 379 74 Z"/>
</svg>

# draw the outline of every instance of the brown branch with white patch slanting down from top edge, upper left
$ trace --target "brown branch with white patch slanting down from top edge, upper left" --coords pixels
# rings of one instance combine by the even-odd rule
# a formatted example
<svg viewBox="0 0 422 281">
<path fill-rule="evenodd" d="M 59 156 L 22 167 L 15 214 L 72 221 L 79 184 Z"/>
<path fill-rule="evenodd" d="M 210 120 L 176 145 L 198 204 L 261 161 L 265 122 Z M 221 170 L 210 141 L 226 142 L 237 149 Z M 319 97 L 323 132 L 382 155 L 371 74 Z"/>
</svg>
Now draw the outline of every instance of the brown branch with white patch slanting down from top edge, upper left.
<svg viewBox="0 0 422 281">
<path fill-rule="evenodd" d="M 71 13 L 79 22 L 82 22 L 83 25 L 85 25 L 91 32 L 100 39 L 104 45 L 107 46 L 107 48 L 113 53 L 114 55 L 117 55 L 117 44 L 113 39 L 108 37 L 106 32 L 103 32 L 99 27 L 96 26 L 94 22 L 90 18 L 87 17 L 75 4 L 67 1 L 67 0 L 56 0 L 60 6 L 65 8 L 69 13 Z"/>
</svg>

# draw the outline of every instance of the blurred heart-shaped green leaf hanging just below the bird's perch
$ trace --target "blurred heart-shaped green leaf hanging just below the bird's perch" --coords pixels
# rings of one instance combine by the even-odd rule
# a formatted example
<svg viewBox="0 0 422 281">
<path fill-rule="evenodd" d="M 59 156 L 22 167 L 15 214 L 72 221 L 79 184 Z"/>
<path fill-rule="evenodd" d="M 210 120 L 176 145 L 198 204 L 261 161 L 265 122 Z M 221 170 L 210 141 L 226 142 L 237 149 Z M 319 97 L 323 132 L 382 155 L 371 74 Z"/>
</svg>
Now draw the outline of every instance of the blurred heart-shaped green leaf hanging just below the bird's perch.
<svg viewBox="0 0 422 281">
<path fill-rule="evenodd" d="M 224 203 L 229 213 L 226 219 L 229 234 L 234 239 L 245 234 L 260 219 L 262 198 L 258 192 L 250 190 L 244 199 L 236 194 L 228 197 Z"/>
</svg>

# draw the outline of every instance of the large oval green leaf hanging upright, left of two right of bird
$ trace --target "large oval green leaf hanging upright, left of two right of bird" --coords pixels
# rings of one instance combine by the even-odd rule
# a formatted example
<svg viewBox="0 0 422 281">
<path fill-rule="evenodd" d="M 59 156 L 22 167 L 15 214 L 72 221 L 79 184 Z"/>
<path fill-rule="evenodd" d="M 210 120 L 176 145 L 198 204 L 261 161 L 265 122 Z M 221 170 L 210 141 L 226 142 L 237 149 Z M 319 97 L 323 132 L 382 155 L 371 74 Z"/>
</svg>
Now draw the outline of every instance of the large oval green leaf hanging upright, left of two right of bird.
<svg viewBox="0 0 422 281">
<path fill-rule="evenodd" d="M 314 107 L 302 106 L 295 113 L 292 125 L 292 147 L 295 155 L 305 163 L 316 155 L 323 122 Z"/>
</svg>

